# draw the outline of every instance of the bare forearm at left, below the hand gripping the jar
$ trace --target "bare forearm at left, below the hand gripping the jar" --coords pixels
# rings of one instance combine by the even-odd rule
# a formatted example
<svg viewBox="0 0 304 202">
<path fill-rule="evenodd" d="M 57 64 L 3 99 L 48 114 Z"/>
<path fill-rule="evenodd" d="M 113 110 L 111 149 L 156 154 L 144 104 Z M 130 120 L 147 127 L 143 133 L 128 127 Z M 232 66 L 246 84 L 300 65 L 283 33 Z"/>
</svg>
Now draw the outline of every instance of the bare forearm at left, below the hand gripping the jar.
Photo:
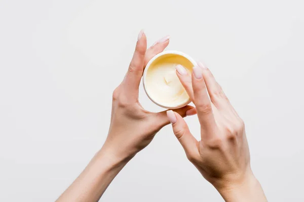
<svg viewBox="0 0 304 202">
<path fill-rule="evenodd" d="M 128 159 L 111 156 L 109 151 L 102 148 L 80 176 L 57 199 L 57 202 L 98 201 L 128 161 Z"/>
</svg>

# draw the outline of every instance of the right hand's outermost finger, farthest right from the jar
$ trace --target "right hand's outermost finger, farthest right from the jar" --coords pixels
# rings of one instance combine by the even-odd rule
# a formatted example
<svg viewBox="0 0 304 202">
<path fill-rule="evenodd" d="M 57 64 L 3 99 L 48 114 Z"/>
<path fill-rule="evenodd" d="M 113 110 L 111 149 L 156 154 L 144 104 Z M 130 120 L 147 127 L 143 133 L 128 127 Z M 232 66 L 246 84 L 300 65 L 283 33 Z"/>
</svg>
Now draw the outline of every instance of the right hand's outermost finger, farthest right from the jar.
<svg viewBox="0 0 304 202">
<path fill-rule="evenodd" d="M 220 85 L 216 82 L 211 71 L 201 62 L 198 65 L 203 69 L 203 77 L 211 99 L 211 102 L 217 109 L 225 110 L 229 105 L 229 99 L 226 97 Z"/>
</svg>

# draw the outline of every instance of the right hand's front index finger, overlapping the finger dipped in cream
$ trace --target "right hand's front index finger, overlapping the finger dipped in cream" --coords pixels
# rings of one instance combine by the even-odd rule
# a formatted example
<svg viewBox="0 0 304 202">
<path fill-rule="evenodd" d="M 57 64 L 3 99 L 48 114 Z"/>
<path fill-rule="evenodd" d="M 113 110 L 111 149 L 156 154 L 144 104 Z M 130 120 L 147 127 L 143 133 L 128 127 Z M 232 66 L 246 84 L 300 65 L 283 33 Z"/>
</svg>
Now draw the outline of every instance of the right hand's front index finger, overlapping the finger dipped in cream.
<svg viewBox="0 0 304 202">
<path fill-rule="evenodd" d="M 192 72 L 192 88 L 194 93 L 195 106 L 202 128 L 212 130 L 215 120 L 212 112 L 211 102 L 203 78 L 203 69 L 195 66 Z M 209 133 L 204 133 L 209 134 Z M 202 137 L 203 138 L 203 137 Z"/>
</svg>

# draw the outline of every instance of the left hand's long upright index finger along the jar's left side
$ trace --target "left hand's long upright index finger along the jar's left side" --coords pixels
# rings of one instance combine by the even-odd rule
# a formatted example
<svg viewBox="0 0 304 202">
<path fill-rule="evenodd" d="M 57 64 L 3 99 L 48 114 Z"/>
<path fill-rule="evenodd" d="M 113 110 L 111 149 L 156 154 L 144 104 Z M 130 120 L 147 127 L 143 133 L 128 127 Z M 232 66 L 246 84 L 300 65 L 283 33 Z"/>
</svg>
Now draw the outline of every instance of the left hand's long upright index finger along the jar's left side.
<svg viewBox="0 0 304 202">
<path fill-rule="evenodd" d="M 130 95 L 129 98 L 138 96 L 138 87 L 143 73 L 146 48 L 146 35 L 143 31 L 140 31 L 138 34 L 135 52 L 123 83 L 125 92 Z"/>
</svg>

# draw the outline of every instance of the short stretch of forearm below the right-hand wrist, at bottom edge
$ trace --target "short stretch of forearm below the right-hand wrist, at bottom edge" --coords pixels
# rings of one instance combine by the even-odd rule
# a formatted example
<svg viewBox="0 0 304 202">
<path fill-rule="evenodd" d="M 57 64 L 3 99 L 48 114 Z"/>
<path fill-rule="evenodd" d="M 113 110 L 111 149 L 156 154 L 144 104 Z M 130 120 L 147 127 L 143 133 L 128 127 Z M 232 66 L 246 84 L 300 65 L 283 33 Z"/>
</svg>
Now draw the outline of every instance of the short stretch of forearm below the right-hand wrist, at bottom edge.
<svg viewBox="0 0 304 202">
<path fill-rule="evenodd" d="M 267 202 L 260 183 L 253 175 L 241 184 L 217 190 L 226 202 Z"/>
</svg>

